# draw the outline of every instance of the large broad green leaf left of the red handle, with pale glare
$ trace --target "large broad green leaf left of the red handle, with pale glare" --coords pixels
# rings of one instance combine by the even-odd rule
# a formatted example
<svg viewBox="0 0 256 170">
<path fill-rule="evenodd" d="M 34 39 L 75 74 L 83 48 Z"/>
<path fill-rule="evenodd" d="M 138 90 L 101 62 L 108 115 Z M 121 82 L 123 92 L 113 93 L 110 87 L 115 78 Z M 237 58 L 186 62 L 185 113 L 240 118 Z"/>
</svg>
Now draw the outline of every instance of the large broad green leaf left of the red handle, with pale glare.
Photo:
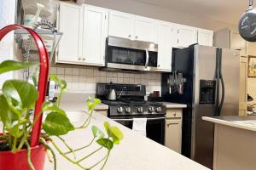
<svg viewBox="0 0 256 170">
<path fill-rule="evenodd" d="M 8 80 L 3 83 L 3 95 L 10 105 L 24 109 L 35 104 L 38 99 L 38 90 L 29 82 Z"/>
</svg>

